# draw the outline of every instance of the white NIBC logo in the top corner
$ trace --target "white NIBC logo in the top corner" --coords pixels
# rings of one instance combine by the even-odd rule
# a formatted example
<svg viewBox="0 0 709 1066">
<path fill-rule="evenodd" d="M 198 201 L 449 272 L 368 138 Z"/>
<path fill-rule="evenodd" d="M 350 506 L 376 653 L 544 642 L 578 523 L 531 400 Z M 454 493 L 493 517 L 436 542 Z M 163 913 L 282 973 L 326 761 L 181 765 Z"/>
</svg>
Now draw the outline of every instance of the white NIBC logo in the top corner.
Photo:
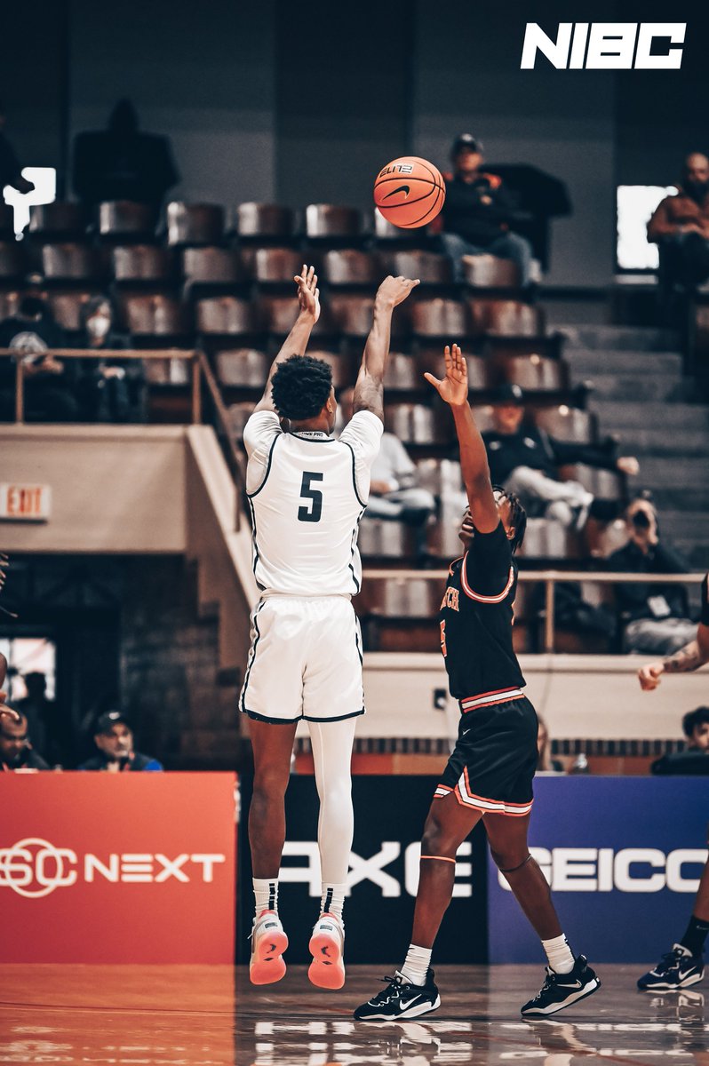
<svg viewBox="0 0 709 1066">
<path fill-rule="evenodd" d="M 537 52 L 557 70 L 679 70 L 687 22 L 560 22 L 557 39 L 528 22 L 520 70 Z"/>
</svg>

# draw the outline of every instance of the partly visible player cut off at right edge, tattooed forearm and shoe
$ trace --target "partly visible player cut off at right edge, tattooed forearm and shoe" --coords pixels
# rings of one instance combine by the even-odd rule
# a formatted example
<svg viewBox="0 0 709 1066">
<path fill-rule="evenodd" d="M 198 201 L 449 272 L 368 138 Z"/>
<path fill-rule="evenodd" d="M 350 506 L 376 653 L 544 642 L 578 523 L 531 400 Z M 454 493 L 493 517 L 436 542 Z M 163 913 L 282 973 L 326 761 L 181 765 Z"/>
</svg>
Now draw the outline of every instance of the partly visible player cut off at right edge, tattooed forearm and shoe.
<svg viewBox="0 0 709 1066">
<path fill-rule="evenodd" d="M 696 639 L 667 659 L 647 663 L 638 671 L 644 692 L 652 692 L 662 674 L 686 674 L 709 663 L 709 574 L 702 582 L 702 615 Z M 687 988 L 704 976 L 704 946 L 709 936 L 709 860 L 705 863 L 692 916 L 683 937 L 672 946 L 652 970 L 638 981 L 648 991 Z"/>
</svg>

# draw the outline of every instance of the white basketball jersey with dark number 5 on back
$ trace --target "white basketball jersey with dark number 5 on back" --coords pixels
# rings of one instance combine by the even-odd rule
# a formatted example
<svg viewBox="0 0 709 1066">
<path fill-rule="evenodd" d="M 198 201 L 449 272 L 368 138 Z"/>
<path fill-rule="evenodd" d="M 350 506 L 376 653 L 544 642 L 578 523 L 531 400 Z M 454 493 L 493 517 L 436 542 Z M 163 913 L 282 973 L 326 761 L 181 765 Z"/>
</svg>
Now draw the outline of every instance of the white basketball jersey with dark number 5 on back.
<svg viewBox="0 0 709 1066">
<path fill-rule="evenodd" d="M 355 595 L 361 584 L 359 521 L 383 425 L 359 411 L 339 440 L 284 433 L 272 411 L 244 430 L 246 491 L 260 588 L 295 596 Z"/>
</svg>

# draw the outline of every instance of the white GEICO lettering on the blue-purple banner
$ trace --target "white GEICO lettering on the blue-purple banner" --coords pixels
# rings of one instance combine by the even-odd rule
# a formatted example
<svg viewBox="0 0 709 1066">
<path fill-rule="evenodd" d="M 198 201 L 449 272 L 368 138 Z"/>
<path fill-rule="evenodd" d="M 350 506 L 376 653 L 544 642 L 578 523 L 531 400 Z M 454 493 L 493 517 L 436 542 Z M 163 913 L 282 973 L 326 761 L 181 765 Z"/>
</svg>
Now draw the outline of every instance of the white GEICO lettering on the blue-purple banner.
<svg viewBox="0 0 709 1066">
<path fill-rule="evenodd" d="M 706 849 L 530 847 L 554 892 L 696 892 Z M 503 875 L 501 888 L 510 890 Z"/>
</svg>

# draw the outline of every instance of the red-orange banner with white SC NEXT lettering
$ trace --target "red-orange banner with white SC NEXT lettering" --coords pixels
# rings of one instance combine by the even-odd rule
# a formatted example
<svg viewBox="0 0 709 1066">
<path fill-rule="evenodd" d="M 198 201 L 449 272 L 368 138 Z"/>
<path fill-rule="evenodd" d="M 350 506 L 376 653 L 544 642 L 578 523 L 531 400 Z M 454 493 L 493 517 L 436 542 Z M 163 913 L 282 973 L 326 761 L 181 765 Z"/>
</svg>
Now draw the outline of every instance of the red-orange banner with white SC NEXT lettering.
<svg viewBox="0 0 709 1066">
<path fill-rule="evenodd" d="M 233 774 L 1 774 L 0 962 L 233 962 Z"/>
</svg>

